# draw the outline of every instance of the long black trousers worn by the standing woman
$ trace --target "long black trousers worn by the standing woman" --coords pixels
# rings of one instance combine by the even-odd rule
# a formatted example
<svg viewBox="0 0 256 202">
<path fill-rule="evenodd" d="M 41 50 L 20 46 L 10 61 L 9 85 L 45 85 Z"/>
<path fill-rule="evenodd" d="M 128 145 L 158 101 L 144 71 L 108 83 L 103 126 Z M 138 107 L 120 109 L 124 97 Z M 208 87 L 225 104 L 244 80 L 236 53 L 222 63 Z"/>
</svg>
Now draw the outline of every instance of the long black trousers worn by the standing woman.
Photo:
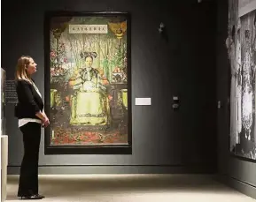
<svg viewBox="0 0 256 202">
<path fill-rule="evenodd" d="M 18 196 L 38 194 L 38 157 L 41 124 L 27 123 L 21 126 L 24 156 L 20 167 Z"/>
</svg>

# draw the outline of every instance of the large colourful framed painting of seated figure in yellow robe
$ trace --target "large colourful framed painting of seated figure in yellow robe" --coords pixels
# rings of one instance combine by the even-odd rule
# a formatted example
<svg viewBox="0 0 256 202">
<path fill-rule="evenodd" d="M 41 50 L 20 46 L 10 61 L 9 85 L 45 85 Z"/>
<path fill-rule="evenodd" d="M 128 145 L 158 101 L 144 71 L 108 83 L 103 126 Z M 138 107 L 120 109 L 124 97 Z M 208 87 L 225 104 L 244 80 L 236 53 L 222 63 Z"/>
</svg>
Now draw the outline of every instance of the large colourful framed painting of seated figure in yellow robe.
<svg viewBox="0 0 256 202">
<path fill-rule="evenodd" d="M 130 15 L 45 15 L 45 154 L 132 152 Z"/>
</svg>

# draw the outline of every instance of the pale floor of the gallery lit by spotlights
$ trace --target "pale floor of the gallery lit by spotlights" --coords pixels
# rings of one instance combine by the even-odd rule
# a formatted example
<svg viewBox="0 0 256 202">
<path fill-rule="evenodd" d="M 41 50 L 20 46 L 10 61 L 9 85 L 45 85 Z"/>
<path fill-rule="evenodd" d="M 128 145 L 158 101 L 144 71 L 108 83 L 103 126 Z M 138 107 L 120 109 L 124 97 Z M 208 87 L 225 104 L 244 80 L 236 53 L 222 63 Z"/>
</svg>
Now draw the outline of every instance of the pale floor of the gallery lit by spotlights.
<svg viewBox="0 0 256 202">
<path fill-rule="evenodd" d="M 51 202 L 255 202 L 200 175 L 40 176 L 40 201 Z M 8 176 L 7 201 L 16 197 L 19 176 Z"/>
</svg>

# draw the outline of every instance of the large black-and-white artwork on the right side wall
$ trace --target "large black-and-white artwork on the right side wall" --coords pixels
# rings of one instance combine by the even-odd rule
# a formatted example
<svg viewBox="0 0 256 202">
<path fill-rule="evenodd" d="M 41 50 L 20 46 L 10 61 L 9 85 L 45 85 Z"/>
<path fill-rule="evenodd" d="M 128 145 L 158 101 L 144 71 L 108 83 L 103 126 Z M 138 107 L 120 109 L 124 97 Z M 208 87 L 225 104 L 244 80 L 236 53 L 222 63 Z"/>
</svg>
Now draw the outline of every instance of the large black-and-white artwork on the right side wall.
<svg viewBox="0 0 256 202">
<path fill-rule="evenodd" d="M 256 161 L 256 0 L 229 0 L 229 150 Z"/>
</svg>

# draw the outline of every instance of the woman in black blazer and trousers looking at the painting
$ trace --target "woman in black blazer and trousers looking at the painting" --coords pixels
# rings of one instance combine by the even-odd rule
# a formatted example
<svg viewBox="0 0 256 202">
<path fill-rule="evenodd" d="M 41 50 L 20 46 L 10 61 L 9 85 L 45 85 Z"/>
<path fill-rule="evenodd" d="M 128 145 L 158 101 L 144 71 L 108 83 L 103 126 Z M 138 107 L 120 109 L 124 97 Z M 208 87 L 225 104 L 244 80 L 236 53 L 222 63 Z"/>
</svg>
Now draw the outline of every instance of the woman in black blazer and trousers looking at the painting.
<svg viewBox="0 0 256 202">
<path fill-rule="evenodd" d="M 18 197 L 42 199 L 38 194 L 38 157 L 41 126 L 50 122 L 43 111 L 42 96 L 31 76 L 36 72 L 35 61 L 30 56 L 21 56 L 15 73 L 18 104 L 15 116 L 19 119 L 19 130 L 23 134 L 24 156 L 20 167 Z"/>
</svg>

